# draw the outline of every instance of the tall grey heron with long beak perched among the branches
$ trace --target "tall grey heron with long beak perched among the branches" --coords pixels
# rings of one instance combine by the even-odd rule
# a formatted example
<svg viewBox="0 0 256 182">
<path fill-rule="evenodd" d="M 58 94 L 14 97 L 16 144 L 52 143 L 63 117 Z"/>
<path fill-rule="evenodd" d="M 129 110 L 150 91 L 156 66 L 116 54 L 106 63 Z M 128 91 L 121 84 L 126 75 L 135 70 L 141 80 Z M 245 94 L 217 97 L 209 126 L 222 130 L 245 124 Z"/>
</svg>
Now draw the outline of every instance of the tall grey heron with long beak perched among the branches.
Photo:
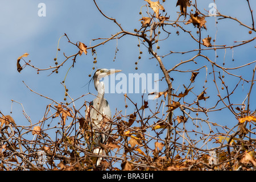
<svg viewBox="0 0 256 182">
<path fill-rule="evenodd" d="M 89 137 L 89 148 L 94 154 L 105 155 L 105 151 L 101 148 L 100 143 L 104 144 L 110 134 L 111 125 L 105 122 L 104 118 L 111 119 L 111 110 L 109 102 L 104 98 L 105 85 L 101 78 L 109 76 L 113 73 L 121 72 L 119 69 L 97 69 L 94 73 L 94 87 L 98 95 L 90 103 L 87 115 L 89 118 L 89 126 L 92 131 Z M 97 158 L 96 166 L 100 165 L 102 158 Z"/>
</svg>

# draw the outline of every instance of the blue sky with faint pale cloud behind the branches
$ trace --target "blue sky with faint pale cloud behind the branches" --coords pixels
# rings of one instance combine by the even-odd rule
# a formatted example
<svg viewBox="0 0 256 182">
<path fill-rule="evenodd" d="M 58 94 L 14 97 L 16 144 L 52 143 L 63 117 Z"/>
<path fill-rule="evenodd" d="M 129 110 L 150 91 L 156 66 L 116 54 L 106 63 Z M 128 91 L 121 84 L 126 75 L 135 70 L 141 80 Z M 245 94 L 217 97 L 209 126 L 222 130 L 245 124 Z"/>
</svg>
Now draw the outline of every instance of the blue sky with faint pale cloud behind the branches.
<svg viewBox="0 0 256 182">
<path fill-rule="evenodd" d="M 43 2 L 46 4 L 46 17 L 38 16 L 38 4 Z M 127 30 L 133 32 L 134 28 L 141 27 L 141 15 L 139 11 L 143 5 L 146 5 L 145 1 L 133 0 L 133 1 L 97 1 L 98 6 L 108 16 L 117 19 L 118 23 Z M 209 3 L 213 1 L 198 1 L 199 9 L 209 10 Z M 162 3 L 162 1 L 160 1 Z M 256 9 L 256 2 L 250 1 L 251 8 Z M 225 15 L 234 16 L 247 26 L 251 26 L 251 16 L 246 1 L 216 1 L 217 9 Z M 177 11 L 179 7 L 176 7 L 176 1 L 167 0 L 163 4 L 166 9 L 166 13 L 170 15 L 171 20 L 175 20 L 177 17 Z M 143 7 L 143 15 L 146 15 L 146 9 Z M 188 8 L 188 12 L 191 7 Z M 193 11 L 195 12 L 195 11 Z M 64 88 L 60 84 L 64 80 L 65 74 L 68 68 L 72 65 L 69 60 L 63 67 L 59 69 L 59 73 L 53 73 L 48 76 L 51 71 L 40 72 L 36 74 L 36 70 L 31 67 L 24 68 L 20 73 L 16 71 L 16 60 L 23 53 L 28 52 L 30 55 L 26 57 L 26 60 L 31 60 L 31 64 L 38 68 L 48 68 L 50 65 L 54 66 L 53 59 L 56 57 L 57 42 L 60 36 L 66 33 L 72 42 L 82 42 L 86 46 L 89 46 L 90 40 L 96 38 L 109 38 L 111 35 L 119 31 L 118 27 L 110 20 L 106 19 L 100 14 L 94 5 L 93 1 L 1 1 L 0 3 L 0 110 L 3 114 L 10 114 L 11 111 L 11 100 L 18 101 L 23 104 L 26 113 L 31 117 L 32 123 L 38 122 L 43 118 L 46 106 L 51 104 L 51 101 L 46 98 L 42 98 L 35 93 L 30 92 L 23 84 L 24 81 L 31 89 L 35 90 L 44 96 L 52 98 L 58 102 L 64 102 Z M 254 13 L 255 17 L 255 13 Z M 183 19 L 183 18 L 181 18 Z M 180 19 L 180 20 L 181 20 Z M 189 18 L 187 17 L 186 20 Z M 248 34 L 248 29 L 239 25 L 238 22 L 230 19 L 218 20 L 216 27 L 216 19 L 214 17 L 207 18 L 206 26 L 208 30 L 202 31 L 202 38 L 212 36 L 212 39 L 216 36 L 216 44 L 227 46 L 235 45 L 234 41 L 248 40 L 255 36 Z M 196 28 L 192 24 L 185 25 L 180 23 L 181 26 L 187 30 L 191 30 L 195 38 Z M 179 28 L 168 26 L 167 31 L 172 34 L 170 37 L 159 43 L 160 49 L 159 55 L 166 55 L 169 51 L 189 51 L 191 49 L 198 48 L 197 43 L 193 41 L 188 34 L 185 34 Z M 180 32 L 180 35 L 176 35 L 176 31 Z M 166 34 L 162 33 L 161 38 L 166 38 Z M 99 43 L 101 40 L 91 42 L 91 45 Z M 159 73 L 159 77 L 163 77 L 158 63 L 155 59 L 150 59 L 152 55 L 149 55 L 147 48 L 141 46 L 142 59 L 139 60 L 138 70 L 135 70 L 135 61 L 138 60 L 139 49 L 137 47 L 138 39 L 132 36 L 125 36 L 118 40 L 117 56 L 115 56 L 116 41 L 112 40 L 106 43 L 104 46 L 96 48 L 97 51 L 97 68 L 115 68 L 122 69 L 123 73 Z M 213 44 L 213 42 L 212 42 Z M 75 46 L 67 43 L 67 39 L 63 37 L 60 40 L 59 48 L 61 51 L 58 52 L 58 62 L 64 59 L 63 52 L 65 55 L 73 55 L 78 50 Z M 174 65 L 180 62 L 180 60 L 187 60 L 195 56 L 197 52 L 181 54 L 172 54 L 164 57 L 163 63 L 167 69 L 171 69 Z M 234 49 L 218 50 L 218 58 L 215 57 L 216 52 L 204 51 L 204 55 L 208 56 L 211 60 L 216 59 L 216 63 L 222 65 L 224 62 L 225 55 L 225 66 L 228 68 L 237 67 L 255 60 L 255 41 L 246 44 L 245 46 Z M 234 61 L 232 61 L 234 59 Z M 208 83 L 205 85 L 208 87 L 207 93 L 210 96 L 208 102 L 202 101 L 205 106 L 214 105 L 217 98 L 216 88 L 213 85 L 212 67 L 210 64 L 202 58 L 196 59 L 197 65 L 189 63 L 185 64 L 179 69 L 197 69 L 203 65 L 208 67 Z M 20 64 L 24 64 L 20 61 Z M 251 80 L 254 64 L 248 67 L 232 71 L 237 75 L 242 75 L 246 80 Z M 84 86 L 90 78 L 88 75 L 92 72 L 93 67 L 93 56 L 90 50 L 88 55 L 78 56 L 76 59 L 75 67 L 68 72 L 65 84 L 69 89 L 69 95 L 72 98 L 78 98 L 82 94 L 88 93 L 88 86 Z M 220 71 L 220 70 L 218 70 Z M 195 94 L 200 94 L 203 91 L 205 80 L 205 69 L 202 69 L 198 80 L 195 82 Z M 92 73 L 93 74 L 93 73 Z M 223 74 L 221 72 L 221 74 Z M 226 76 L 226 75 L 225 75 Z M 189 84 L 189 78 L 191 73 L 171 73 L 171 77 L 174 78 L 174 88 L 177 89 L 180 86 L 180 91 L 183 91 L 183 84 Z M 229 88 L 234 88 L 238 83 L 238 78 L 233 80 L 233 77 L 226 76 L 225 82 L 229 85 Z M 84 86 L 84 87 L 82 87 Z M 159 90 L 165 90 L 167 88 L 166 83 L 160 82 Z M 221 88 L 221 86 L 220 86 Z M 90 92 L 96 93 L 93 84 L 90 85 Z M 249 91 L 249 85 L 244 83 L 237 89 L 237 94 L 232 96 L 235 104 L 241 104 L 245 99 L 247 92 Z M 211 93 L 214 93 L 211 95 Z M 224 92 L 223 92 L 224 93 Z M 125 109 L 125 102 L 123 94 L 108 94 L 105 96 L 109 100 L 110 106 L 113 110 L 117 107 L 118 110 Z M 141 104 L 141 94 L 129 94 L 134 101 Z M 195 96 L 193 97 L 193 99 Z M 79 108 L 84 103 L 84 100 L 91 101 L 93 96 L 82 98 L 76 102 L 76 107 Z M 246 102 L 247 103 L 247 102 Z M 251 105 L 252 110 L 256 107 L 255 88 L 251 93 Z M 150 106 L 153 107 L 156 104 L 155 101 L 151 101 Z M 221 106 L 221 105 L 220 105 Z M 28 125 L 26 118 L 22 113 L 22 107 L 18 104 L 13 104 L 12 116 L 17 125 Z M 124 114 L 124 113 L 123 113 Z M 209 113 L 210 121 L 218 122 L 221 125 L 234 126 L 237 121 L 233 115 L 230 115 L 228 110 L 221 111 L 220 114 Z M 230 118 L 231 117 L 231 118 Z"/>
</svg>

